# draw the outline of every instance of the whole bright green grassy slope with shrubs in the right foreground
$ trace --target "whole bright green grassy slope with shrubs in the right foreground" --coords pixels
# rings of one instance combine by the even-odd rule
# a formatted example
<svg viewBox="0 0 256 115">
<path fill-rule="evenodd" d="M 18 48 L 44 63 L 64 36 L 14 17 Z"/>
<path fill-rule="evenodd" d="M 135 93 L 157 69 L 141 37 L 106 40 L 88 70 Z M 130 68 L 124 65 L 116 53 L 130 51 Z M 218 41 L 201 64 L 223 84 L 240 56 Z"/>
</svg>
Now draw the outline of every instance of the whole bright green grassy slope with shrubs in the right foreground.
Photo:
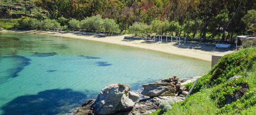
<svg viewBox="0 0 256 115">
<path fill-rule="evenodd" d="M 234 75 L 242 78 L 227 82 Z M 193 83 L 187 84 L 191 87 Z M 249 88 L 243 92 L 243 84 Z M 227 96 L 244 94 L 238 100 Z M 236 94 L 236 95 L 238 95 Z M 256 48 L 223 56 L 207 75 L 200 78 L 195 90 L 186 100 L 175 103 L 166 113 L 161 110 L 151 115 L 254 115 L 256 113 Z"/>
</svg>

